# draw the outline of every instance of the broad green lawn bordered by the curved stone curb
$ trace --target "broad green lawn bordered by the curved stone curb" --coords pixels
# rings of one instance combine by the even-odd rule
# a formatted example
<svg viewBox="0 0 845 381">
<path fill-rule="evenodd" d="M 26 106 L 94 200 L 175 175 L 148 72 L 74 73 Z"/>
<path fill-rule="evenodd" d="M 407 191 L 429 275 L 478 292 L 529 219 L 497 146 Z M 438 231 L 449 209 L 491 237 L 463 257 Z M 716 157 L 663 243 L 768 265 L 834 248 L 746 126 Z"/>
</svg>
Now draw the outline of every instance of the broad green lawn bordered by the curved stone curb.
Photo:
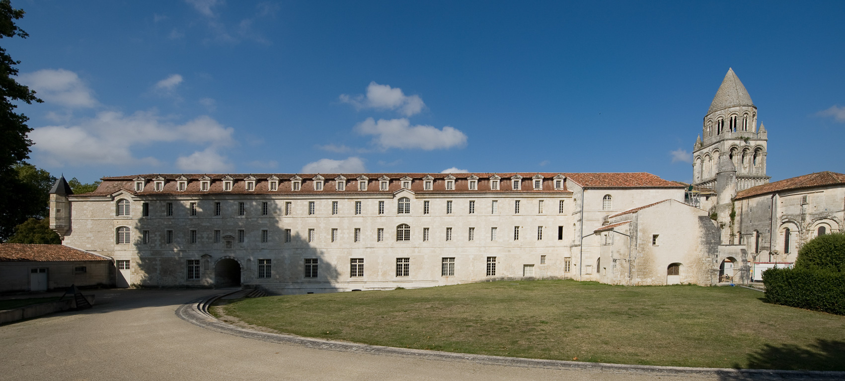
<svg viewBox="0 0 845 381">
<path fill-rule="evenodd" d="M 845 316 L 741 287 L 497 281 L 243 299 L 226 314 L 281 333 L 584 362 L 845 370 Z"/>
</svg>

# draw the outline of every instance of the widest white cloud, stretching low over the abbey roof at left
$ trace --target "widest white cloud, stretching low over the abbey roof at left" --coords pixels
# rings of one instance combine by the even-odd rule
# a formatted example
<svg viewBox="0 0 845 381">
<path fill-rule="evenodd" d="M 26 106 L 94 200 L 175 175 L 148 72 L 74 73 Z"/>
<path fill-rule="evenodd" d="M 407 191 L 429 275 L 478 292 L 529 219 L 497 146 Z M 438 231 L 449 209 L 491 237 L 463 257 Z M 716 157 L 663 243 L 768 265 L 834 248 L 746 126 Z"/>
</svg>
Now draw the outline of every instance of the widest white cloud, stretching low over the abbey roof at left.
<svg viewBox="0 0 845 381">
<path fill-rule="evenodd" d="M 222 147 L 232 143 L 233 132 L 232 128 L 225 128 L 207 116 L 174 124 L 163 120 L 155 112 L 135 112 L 132 115 L 99 112 L 95 117 L 74 125 L 35 128 L 29 137 L 35 142 L 35 153 L 48 165 L 126 165 L 135 161 L 158 162 L 152 158 L 136 158 L 133 149 L 137 146 L 186 142 Z M 205 156 L 211 158 L 212 153 L 215 152 L 206 152 Z"/>
</svg>

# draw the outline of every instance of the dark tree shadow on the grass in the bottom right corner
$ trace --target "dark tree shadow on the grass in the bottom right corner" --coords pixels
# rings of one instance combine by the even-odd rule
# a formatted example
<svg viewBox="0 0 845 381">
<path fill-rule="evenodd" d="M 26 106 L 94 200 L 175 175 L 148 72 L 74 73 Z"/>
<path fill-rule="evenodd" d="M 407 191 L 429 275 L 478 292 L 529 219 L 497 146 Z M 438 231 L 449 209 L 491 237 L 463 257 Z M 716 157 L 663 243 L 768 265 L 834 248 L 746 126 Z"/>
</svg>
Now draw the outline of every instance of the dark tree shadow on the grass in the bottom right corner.
<svg viewBox="0 0 845 381">
<path fill-rule="evenodd" d="M 722 380 L 760 380 L 771 379 L 771 373 L 750 372 L 748 369 L 778 369 L 791 371 L 845 371 L 845 341 L 816 339 L 815 344 L 796 346 L 784 344 L 772 346 L 766 344 L 759 351 L 748 355 L 748 369 L 740 369 L 734 364 L 735 372 L 719 374 Z M 809 374 L 785 375 L 780 378 L 808 378 Z M 845 374 L 831 375 L 830 378 L 813 374 L 810 378 L 843 379 Z"/>
</svg>

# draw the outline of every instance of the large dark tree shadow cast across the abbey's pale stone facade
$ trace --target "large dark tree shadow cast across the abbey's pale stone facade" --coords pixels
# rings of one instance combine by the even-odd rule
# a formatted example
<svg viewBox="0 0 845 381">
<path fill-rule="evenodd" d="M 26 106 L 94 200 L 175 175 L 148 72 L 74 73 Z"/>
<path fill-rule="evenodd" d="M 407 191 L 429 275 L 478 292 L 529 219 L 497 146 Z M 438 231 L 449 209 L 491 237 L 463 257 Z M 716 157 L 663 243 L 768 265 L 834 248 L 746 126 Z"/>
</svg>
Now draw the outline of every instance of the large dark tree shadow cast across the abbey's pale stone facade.
<svg viewBox="0 0 845 381">
<path fill-rule="evenodd" d="M 333 285 L 340 272 L 334 261 L 317 246 L 319 242 L 330 241 L 330 231 L 315 231 L 314 244 L 306 239 L 306 226 L 303 226 L 304 231 L 297 231 L 292 226 L 288 234 L 286 220 L 297 217 L 283 215 L 284 202 L 248 196 L 243 199 L 199 196 L 194 200 L 157 197 L 134 202 L 148 203 L 150 213 L 133 218 L 133 224 L 128 225 L 132 227 L 132 244 L 127 245 L 127 250 L 134 252 L 130 261 L 132 268 L 123 270 L 123 274 L 117 269 L 118 277 L 128 272 L 128 283 L 132 286 L 257 286 L 274 294 L 339 291 Z M 239 211 L 242 202 L 243 215 Z M 264 202 L 267 202 L 266 215 L 262 213 Z M 196 205 L 192 208 L 191 203 Z M 216 215 L 215 203 L 220 203 L 220 215 Z M 306 277 L 305 259 L 316 259 L 317 277 Z M 268 260 L 269 273 L 263 267 Z M 228 275 L 221 281 L 221 274 L 225 272 Z"/>
</svg>

